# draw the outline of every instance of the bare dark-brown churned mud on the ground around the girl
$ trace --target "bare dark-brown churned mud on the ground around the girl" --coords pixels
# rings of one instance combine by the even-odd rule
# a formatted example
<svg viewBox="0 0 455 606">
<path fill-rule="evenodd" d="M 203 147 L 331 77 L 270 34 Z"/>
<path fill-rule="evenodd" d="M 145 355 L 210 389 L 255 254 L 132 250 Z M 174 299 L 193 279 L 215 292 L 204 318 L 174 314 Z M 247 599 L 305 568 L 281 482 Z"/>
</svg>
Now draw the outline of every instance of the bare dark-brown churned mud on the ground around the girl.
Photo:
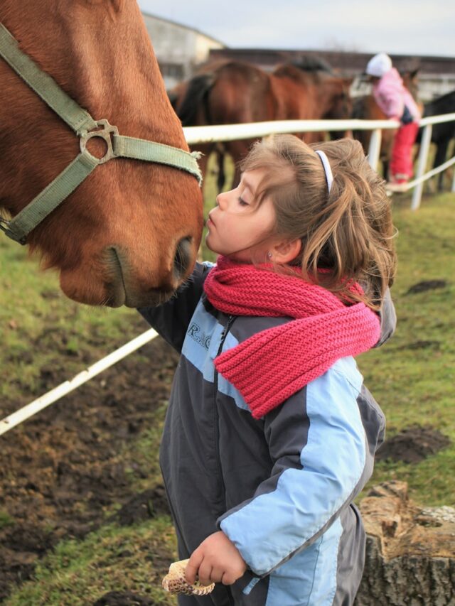
<svg viewBox="0 0 455 606">
<path fill-rule="evenodd" d="M 127 467 L 136 466 L 144 479 L 149 471 L 119 458 L 119 448 L 154 423 L 154 410 L 168 398 L 178 361 L 160 338 L 141 353 L 146 360 L 133 356 L 119 362 L 2 436 L 0 512 L 7 512 L 14 523 L 0 524 L 0 603 L 14 583 L 33 575 L 38 558 L 60 539 L 82 538 L 102 524 L 105 509 L 113 503 L 123 505 L 117 515 L 121 524 L 167 511 L 156 480 L 146 493 L 131 494 Z M 43 368 L 39 393 L 65 379 L 62 369 Z M 418 462 L 447 441 L 433 428 L 412 426 L 386 440 L 378 458 Z M 163 562 L 168 563 L 165 555 Z M 96 604 L 151 603 L 148 597 L 114 592 Z"/>
</svg>

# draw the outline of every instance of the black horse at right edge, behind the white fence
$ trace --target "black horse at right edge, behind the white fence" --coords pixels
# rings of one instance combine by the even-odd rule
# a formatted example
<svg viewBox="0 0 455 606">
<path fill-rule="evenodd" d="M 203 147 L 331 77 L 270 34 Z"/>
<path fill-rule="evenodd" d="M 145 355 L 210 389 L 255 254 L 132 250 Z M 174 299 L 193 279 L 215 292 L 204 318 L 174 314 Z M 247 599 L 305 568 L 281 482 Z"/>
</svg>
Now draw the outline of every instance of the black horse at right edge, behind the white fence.
<svg viewBox="0 0 455 606">
<path fill-rule="evenodd" d="M 455 112 L 455 90 L 443 94 L 437 99 L 424 104 L 423 117 L 439 116 L 439 114 L 451 114 Z M 417 134 L 417 143 L 422 139 L 423 128 Z M 447 150 L 452 139 L 455 139 L 455 121 L 433 124 L 432 143 L 436 145 L 433 167 L 436 168 L 446 161 Z M 444 188 L 444 172 L 438 175 L 438 190 Z"/>
</svg>

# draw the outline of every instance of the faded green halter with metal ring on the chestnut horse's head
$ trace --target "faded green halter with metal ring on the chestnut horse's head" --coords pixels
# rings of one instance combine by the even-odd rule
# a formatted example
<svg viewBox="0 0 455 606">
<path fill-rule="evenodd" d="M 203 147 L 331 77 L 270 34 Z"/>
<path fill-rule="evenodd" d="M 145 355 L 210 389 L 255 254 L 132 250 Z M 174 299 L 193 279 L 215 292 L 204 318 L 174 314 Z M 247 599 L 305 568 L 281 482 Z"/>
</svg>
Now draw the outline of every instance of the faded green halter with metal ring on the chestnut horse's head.
<svg viewBox="0 0 455 606">
<path fill-rule="evenodd" d="M 202 182 L 198 167 L 198 152 L 189 153 L 181 148 L 119 135 L 116 126 L 107 120 L 94 120 L 90 114 L 68 97 L 50 75 L 43 72 L 28 55 L 18 47 L 17 40 L 0 23 L 0 56 L 21 76 L 21 78 L 43 99 L 53 111 L 80 137 L 80 154 L 60 173 L 52 183 L 33 198 L 14 217 L 6 220 L 0 217 L 0 229 L 20 244 L 26 244 L 28 234 L 50 212 L 68 198 L 80 183 L 98 166 L 112 158 L 134 158 L 147 162 L 167 164 L 191 173 Z M 87 151 L 87 141 L 101 137 L 107 145 L 102 158 L 95 158 Z"/>
</svg>

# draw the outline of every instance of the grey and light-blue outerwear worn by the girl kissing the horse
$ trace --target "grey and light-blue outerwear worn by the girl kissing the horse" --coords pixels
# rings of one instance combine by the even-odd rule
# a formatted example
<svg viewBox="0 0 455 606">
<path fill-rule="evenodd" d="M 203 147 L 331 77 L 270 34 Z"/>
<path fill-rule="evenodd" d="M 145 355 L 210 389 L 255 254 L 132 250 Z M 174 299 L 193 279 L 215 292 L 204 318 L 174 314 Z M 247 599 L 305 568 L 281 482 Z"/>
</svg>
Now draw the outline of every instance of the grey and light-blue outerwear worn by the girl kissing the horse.
<svg viewBox="0 0 455 606">
<path fill-rule="evenodd" d="M 382 411 L 354 359 L 345 357 L 253 418 L 213 360 L 291 318 L 221 313 L 203 293 L 208 271 L 210 265 L 197 264 L 176 297 L 139 311 L 181 352 L 160 451 L 179 557 L 221 529 L 249 570 L 234 585 L 181 596 L 179 604 L 352 605 L 365 552 L 353 499 L 384 438 Z M 387 299 L 380 342 L 394 328 Z"/>
</svg>

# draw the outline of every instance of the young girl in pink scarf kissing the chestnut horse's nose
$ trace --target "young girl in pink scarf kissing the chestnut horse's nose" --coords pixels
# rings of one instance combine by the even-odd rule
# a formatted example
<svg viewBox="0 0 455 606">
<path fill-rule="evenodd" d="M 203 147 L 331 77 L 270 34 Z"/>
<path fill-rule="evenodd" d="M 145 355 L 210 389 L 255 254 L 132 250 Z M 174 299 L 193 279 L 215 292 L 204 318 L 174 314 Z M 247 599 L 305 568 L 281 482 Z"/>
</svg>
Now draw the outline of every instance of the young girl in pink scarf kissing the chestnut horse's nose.
<svg viewBox="0 0 455 606">
<path fill-rule="evenodd" d="M 181 351 L 161 443 L 179 556 L 217 583 L 179 604 L 347 606 L 385 428 L 353 356 L 395 322 L 390 204 L 349 139 L 274 136 L 242 170 L 208 218 L 218 263 L 141 310 Z"/>
</svg>

